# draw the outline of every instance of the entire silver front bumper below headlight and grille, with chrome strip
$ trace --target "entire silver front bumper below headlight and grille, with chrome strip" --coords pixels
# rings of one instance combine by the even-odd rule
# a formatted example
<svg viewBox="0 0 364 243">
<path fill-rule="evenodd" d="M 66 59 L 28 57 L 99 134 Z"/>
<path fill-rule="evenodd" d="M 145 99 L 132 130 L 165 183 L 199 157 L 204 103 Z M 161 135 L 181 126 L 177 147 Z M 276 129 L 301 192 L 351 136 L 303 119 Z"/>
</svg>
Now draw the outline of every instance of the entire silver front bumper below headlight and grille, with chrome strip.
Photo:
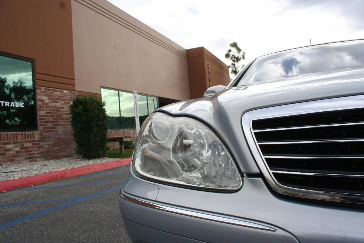
<svg viewBox="0 0 364 243">
<path fill-rule="evenodd" d="M 134 242 L 364 241 L 362 209 L 283 198 L 257 177 L 245 177 L 235 193 L 214 193 L 131 170 L 119 207 Z"/>
</svg>

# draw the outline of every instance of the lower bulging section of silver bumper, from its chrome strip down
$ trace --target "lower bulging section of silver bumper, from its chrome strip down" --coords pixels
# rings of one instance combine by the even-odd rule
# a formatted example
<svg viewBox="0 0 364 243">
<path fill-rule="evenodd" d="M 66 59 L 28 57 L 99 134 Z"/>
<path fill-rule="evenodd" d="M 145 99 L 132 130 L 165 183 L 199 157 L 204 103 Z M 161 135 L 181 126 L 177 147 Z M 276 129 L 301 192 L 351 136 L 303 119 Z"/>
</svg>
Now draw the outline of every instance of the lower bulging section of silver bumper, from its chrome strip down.
<svg viewBox="0 0 364 243">
<path fill-rule="evenodd" d="M 125 192 L 119 207 L 133 242 L 297 242 L 273 225 L 156 203 Z"/>
</svg>

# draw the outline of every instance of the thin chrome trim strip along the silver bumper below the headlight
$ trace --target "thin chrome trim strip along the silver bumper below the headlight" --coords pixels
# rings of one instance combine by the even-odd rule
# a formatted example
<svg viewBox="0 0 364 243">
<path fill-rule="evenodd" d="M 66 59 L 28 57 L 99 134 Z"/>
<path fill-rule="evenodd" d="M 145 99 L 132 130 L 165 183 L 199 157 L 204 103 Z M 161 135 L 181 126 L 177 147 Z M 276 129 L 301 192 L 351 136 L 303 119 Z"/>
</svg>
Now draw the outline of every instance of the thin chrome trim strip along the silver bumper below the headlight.
<svg viewBox="0 0 364 243">
<path fill-rule="evenodd" d="M 209 215 L 209 214 L 206 214 L 206 213 L 193 212 L 193 211 L 189 211 L 189 210 L 186 210 L 186 209 L 179 209 L 179 208 L 169 207 L 169 206 L 166 206 L 166 205 L 158 204 L 156 202 L 150 202 L 150 201 L 142 200 L 141 198 L 131 197 L 131 196 L 127 195 L 123 190 L 120 193 L 120 197 L 123 198 L 126 201 L 133 202 L 135 204 L 139 204 L 139 205 L 149 207 L 149 208 L 162 210 L 162 211 L 165 211 L 165 212 L 177 213 L 179 215 L 194 217 L 194 218 L 198 218 L 198 219 L 205 219 L 205 220 L 210 220 L 210 221 L 219 222 L 219 223 L 233 224 L 233 225 L 238 225 L 238 226 L 242 226 L 242 227 L 262 229 L 262 230 L 272 231 L 272 232 L 277 231 L 277 229 L 275 229 L 275 228 L 268 227 L 268 226 L 265 226 L 265 225 L 262 225 L 262 224 L 251 223 L 251 222 L 244 221 L 244 220 L 229 219 L 229 218 L 226 218 L 226 217 Z"/>
</svg>

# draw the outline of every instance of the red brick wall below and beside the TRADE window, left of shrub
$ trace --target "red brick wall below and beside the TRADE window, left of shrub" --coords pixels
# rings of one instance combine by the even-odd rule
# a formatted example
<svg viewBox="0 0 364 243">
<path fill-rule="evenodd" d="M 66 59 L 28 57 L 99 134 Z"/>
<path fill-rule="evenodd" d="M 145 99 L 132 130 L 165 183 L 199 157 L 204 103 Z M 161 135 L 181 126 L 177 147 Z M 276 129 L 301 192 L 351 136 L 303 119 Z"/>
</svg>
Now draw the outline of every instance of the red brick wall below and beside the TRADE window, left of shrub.
<svg viewBox="0 0 364 243">
<path fill-rule="evenodd" d="M 77 92 L 36 87 L 38 131 L 0 133 L 0 164 L 74 156 L 69 106 Z"/>
</svg>

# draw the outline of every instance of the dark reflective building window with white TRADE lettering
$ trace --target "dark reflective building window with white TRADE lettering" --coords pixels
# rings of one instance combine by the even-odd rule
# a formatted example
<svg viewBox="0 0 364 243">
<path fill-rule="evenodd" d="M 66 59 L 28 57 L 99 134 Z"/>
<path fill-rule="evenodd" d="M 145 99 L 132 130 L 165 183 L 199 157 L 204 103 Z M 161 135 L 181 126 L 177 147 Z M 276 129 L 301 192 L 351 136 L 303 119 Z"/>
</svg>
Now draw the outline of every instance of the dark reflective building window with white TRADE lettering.
<svg viewBox="0 0 364 243">
<path fill-rule="evenodd" d="M 0 131 L 37 129 L 34 63 L 0 53 Z"/>
</svg>

